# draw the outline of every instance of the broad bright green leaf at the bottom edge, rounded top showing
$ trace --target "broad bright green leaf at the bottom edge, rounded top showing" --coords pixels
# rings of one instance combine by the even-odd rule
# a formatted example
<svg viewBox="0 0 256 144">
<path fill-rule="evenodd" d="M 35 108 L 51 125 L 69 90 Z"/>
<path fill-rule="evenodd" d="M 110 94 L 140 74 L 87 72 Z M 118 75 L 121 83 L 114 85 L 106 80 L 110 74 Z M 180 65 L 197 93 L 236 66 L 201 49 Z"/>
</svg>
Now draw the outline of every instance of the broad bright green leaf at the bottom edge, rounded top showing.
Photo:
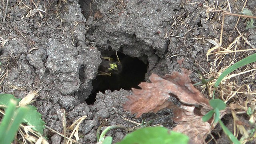
<svg viewBox="0 0 256 144">
<path fill-rule="evenodd" d="M 188 136 L 164 127 L 146 127 L 127 134 L 117 144 L 188 144 Z"/>
</svg>

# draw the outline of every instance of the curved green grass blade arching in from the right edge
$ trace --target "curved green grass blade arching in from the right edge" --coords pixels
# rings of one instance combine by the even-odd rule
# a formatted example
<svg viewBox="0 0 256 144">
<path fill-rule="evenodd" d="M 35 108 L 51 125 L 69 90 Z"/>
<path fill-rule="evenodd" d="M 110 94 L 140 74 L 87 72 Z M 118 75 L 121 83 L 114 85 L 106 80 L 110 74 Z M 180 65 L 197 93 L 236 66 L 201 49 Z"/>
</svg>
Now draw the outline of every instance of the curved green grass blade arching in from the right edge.
<svg viewBox="0 0 256 144">
<path fill-rule="evenodd" d="M 217 87 L 220 82 L 222 81 L 222 79 L 230 74 L 230 72 L 233 72 L 234 70 L 236 70 L 237 68 L 240 68 L 241 66 L 244 66 L 246 64 L 250 64 L 252 62 L 256 62 L 256 54 L 252 54 L 238 62 L 236 62 L 235 64 L 233 64 L 232 66 L 230 66 L 229 68 L 227 68 L 224 72 L 222 72 L 222 74 L 218 77 L 217 81 L 215 82 L 215 86 Z"/>
</svg>

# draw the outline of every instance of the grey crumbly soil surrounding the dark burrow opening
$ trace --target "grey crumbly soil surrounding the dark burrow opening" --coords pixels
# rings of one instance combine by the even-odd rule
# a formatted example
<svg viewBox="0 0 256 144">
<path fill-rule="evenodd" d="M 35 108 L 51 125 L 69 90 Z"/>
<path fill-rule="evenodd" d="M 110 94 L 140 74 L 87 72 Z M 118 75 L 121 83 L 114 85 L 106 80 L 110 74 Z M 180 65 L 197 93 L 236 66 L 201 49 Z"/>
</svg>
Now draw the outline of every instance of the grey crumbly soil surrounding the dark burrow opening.
<svg viewBox="0 0 256 144">
<path fill-rule="evenodd" d="M 240 12 L 243 4 L 242 0 L 231 0 L 232 13 Z M 138 123 L 142 119 L 158 118 L 152 125 L 162 124 L 171 129 L 175 126 L 172 110 L 143 114 L 135 119 L 122 109 L 126 96 L 132 94 L 130 87 L 95 90 L 92 82 L 98 74 L 101 57 L 118 51 L 118 55 L 138 58 L 146 65 L 146 73 L 139 76 L 140 82 L 148 81 L 152 73 L 164 76 L 180 71 L 177 60 L 184 58 L 182 67 L 192 71 L 193 82 L 199 82 L 195 70 L 207 74 L 215 58 L 210 55 L 207 61 L 207 50 L 214 45 L 206 39 L 220 39 L 222 14 L 209 12 L 217 5 L 217 10 L 228 8 L 226 0 L 219 0 L 218 4 L 215 0 L 34 0 L 32 3 L 9 0 L 7 9 L 6 0 L 0 1 L 0 62 L 2 70 L 8 70 L 0 93 L 23 98 L 31 90 L 39 90 L 32 105 L 43 115 L 46 125 L 57 132 L 62 132 L 62 122 L 57 116 L 61 108 L 66 110 L 69 124 L 87 116 L 79 127 L 82 138 L 78 142 L 82 144 L 96 143 L 96 130 L 102 120 L 107 120 L 104 129 L 114 124 L 136 126 L 124 118 Z M 246 5 L 255 15 L 255 0 L 248 0 Z M 237 19 L 225 17 L 224 45 L 229 44 L 230 34 L 232 38 L 238 35 L 236 31 L 232 33 Z M 256 45 L 255 30 L 246 30 L 246 19 L 240 20 L 238 28 Z M 243 48 L 251 47 L 244 44 Z M 235 58 L 239 60 L 242 56 L 244 53 Z M 225 56 L 221 66 L 228 65 L 230 59 L 229 55 Z M 134 78 L 119 83 L 129 83 L 138 79 L 137 75 L 134 73 Z M 116 85 L 108 83 L 112 84 Z M 98 92 L 96 101 L 89 104 L 86 100 L 89 97 L 93 100 L 94 92 Z M 126 134 L 118 129 L 107 135 L 115 143 Z M 52 144 L 63 140 L 47 129 L 45 135 Z"/>
</svg>

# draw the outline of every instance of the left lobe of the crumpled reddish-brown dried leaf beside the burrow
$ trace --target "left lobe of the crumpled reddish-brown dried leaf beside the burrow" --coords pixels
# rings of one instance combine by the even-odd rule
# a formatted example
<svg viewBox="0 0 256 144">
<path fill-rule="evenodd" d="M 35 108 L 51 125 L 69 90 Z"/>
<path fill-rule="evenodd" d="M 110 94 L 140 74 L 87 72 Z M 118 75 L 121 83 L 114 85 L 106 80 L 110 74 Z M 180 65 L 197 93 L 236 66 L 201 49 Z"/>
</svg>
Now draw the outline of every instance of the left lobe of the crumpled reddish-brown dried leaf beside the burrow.
<svg viewBox="0 0 256 144">
<path fill-rule="evenodd" d="M 166 85 L 167 80 L 162 80 L 156 74 L 150 76 L 150 80 L 154 83 L 142 82 L 139 86 L 142 90 L 132 89 L 133 95 L 127 96 L 129 99 L 123 105 L 124 110 L 130 110 L 132 114 L 137 113 L 136 118 L 140 117 L 146 112 L 158 112 L 159 110 L 166 108 L 172 104 L 172 102 L 167 101 L 170 97 L 164 85 Z"/>
</svg>

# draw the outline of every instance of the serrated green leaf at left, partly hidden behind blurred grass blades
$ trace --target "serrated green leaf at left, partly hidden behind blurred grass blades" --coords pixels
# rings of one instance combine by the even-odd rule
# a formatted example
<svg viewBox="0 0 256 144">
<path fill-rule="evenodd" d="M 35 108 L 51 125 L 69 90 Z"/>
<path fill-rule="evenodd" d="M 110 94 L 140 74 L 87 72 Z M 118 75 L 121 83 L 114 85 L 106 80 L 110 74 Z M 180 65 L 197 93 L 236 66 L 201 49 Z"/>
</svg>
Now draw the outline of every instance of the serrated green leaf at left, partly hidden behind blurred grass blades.
<svg viewBox="0 0 256 144">
<path fill-rule="evenodd" d="M 10 99 L 14 99 L 16 102 L 20 102 L 20 99 L 14 98 L 12 94 L 0 94 L 0 104 L 7 106 Z M 36 107 L 27 105 L 28 114 L 22 119 L 23 123 L 30 126 L 35 126 L 33 129 L 43 134 L 45 122 L 41 119 L 42 114 L 36 111 Z"/>
</svg>

